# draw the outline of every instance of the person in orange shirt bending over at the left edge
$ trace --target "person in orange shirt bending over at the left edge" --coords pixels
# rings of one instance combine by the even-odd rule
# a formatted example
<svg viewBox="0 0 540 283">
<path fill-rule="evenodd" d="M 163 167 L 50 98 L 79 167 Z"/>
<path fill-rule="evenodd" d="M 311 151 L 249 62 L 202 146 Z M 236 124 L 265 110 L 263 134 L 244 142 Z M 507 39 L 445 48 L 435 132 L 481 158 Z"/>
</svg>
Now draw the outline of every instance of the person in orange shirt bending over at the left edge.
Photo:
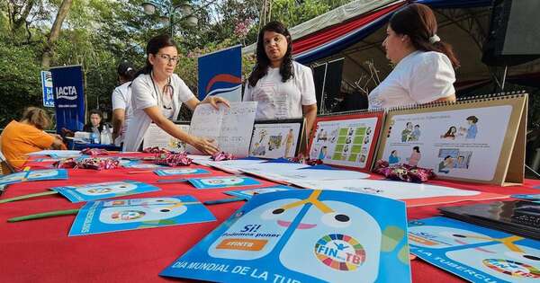
<svg viewBox="0 0 540 283">
<path fill-rule="evenodd" d="M 0 148 L 8 164 L 22 169 L 28 154 L 45 149 L 67 149 L 62 137 L 48 134 L 43 129 L 51 124 L 49 114 L 37 107 L 28 107 L 21 121 L 13 120 L 0 136 Z"/>
</svg>

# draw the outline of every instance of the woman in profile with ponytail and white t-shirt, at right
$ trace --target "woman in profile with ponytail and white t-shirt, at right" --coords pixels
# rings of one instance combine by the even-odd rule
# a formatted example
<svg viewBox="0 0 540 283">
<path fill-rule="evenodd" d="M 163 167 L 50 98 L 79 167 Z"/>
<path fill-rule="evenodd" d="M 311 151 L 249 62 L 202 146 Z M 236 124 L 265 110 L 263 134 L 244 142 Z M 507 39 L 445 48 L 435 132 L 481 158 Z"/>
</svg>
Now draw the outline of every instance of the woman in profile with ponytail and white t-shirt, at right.
<svg viewBox="0 0 540 283">
<path fill-rule="evenodd" d="M 452 47 L 437 36 L 437 19 L 424 4 L 409 4 L 394 13 L 383 47 L 395 65 L 371 93 L 369 108 L 455 101 Z"/>
</svg>

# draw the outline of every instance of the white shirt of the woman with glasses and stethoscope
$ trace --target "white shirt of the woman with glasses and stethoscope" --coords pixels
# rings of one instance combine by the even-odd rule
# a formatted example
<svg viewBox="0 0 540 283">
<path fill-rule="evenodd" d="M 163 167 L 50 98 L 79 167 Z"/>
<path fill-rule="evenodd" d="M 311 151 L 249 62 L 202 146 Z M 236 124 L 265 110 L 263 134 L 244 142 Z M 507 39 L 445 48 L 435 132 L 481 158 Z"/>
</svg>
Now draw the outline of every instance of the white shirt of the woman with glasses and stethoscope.
<svg viewBox="0 0 540 283">
<path fill-rule="evenodd" d="M 185 85 L 184 81 L 176 74 L 171 76 L 170 84 L 173 87 L 173 95 L 169 109 L 163 108 L 164 100 L 160 98 L 162 95 L 157 84 L 154 83 L 150 75 L 139 75 L 131 84 L 131 106 L 133 109 L 133 117 L 130 119 L 128 129 L 124 138 L 123 151 L 137 151 L 142 143 L 142 138 L 146 133 L 152 119 L 144 112 L 144 109 L 152 106 L 161 108 L 163 115 L 169 119 L 178 117 L 180 107 L 183 102 L 193 99 L 195 96 L 192 91 Z M 168 103 L 166 103 L 168 104 Z M 172 114 L 171 114 L 172 113 Z"/>
</svg>

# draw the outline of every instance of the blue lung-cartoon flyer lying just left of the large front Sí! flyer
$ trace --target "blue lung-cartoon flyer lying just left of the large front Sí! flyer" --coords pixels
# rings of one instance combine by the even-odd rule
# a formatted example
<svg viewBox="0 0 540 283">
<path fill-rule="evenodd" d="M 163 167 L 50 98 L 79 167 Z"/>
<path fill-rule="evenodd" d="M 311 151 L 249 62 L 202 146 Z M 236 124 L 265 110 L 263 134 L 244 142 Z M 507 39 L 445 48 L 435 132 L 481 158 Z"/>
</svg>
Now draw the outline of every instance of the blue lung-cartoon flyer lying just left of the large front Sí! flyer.
<svg viewBox="0 0 540 283">
<path fill-rule="evenodd" d="M 192 196 L 90 201 L 76 215 L 69 236 L 215 221 Z"/>
</svg>

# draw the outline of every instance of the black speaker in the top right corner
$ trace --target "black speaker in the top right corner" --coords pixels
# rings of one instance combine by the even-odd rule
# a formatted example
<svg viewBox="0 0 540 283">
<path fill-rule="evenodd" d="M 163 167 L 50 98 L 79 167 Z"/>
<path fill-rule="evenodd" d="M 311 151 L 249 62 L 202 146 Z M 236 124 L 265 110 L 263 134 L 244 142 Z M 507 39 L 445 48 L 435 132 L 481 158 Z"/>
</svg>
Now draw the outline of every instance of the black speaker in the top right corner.
<svg viewBox="0 0 540 283">
<path fill-rule="evenodd" d="M 482 62 L 514 66 L 540 57 L 540 0 L 493 1 Z"/>
</svg>

